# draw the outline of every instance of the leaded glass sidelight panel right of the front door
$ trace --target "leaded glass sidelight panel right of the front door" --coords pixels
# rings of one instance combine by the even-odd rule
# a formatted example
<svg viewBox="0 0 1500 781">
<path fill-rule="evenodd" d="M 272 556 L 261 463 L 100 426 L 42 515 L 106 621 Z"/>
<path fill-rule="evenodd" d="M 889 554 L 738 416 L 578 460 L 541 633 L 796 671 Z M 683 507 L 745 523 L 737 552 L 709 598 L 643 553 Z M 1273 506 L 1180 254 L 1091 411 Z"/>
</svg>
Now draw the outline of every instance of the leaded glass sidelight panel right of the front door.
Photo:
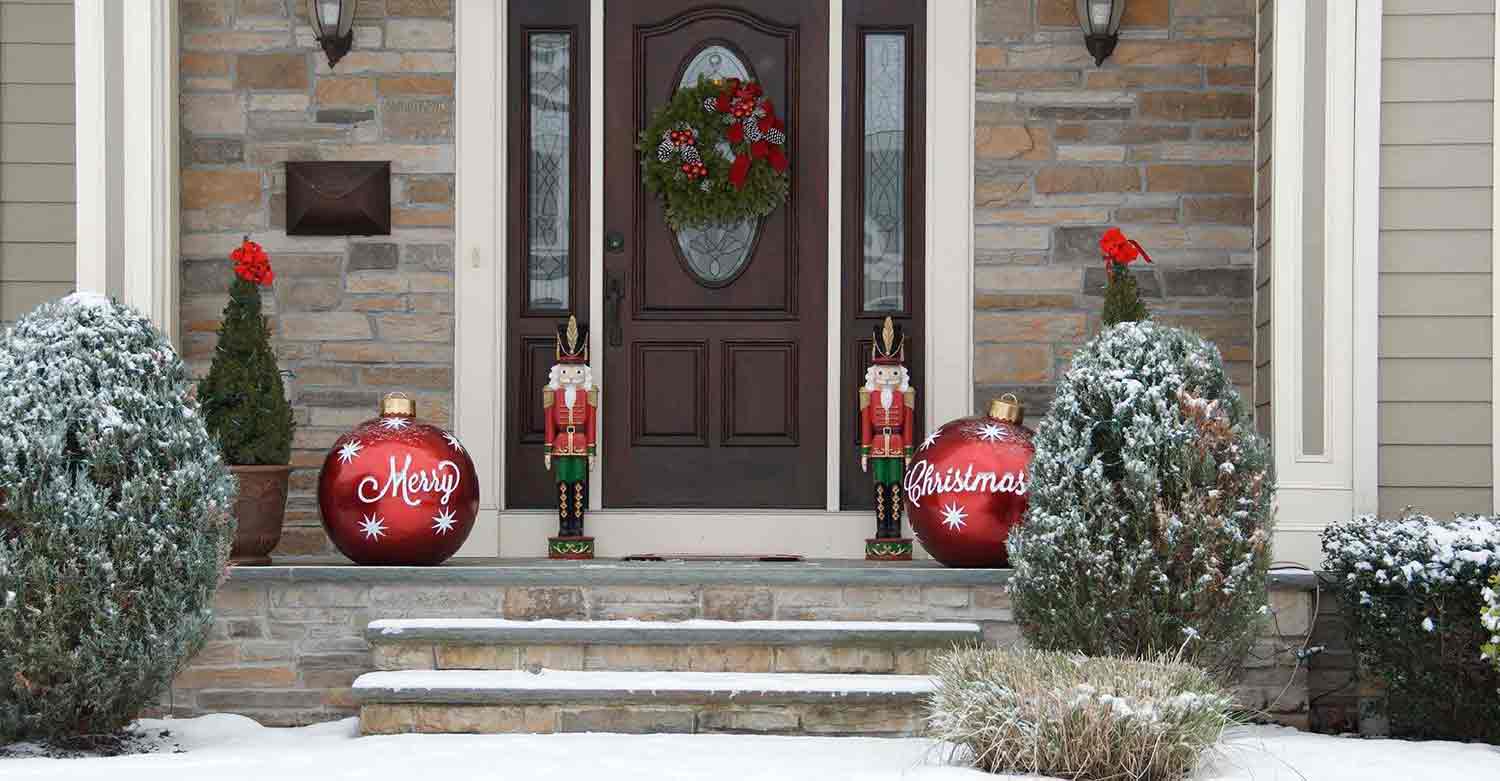
<svg viewBox="0 0 1500 781">
<path fill-rule="evenodd" d="M 864 36 L 864 310 L 904 312 L 906 36 Z"/>
</svg>

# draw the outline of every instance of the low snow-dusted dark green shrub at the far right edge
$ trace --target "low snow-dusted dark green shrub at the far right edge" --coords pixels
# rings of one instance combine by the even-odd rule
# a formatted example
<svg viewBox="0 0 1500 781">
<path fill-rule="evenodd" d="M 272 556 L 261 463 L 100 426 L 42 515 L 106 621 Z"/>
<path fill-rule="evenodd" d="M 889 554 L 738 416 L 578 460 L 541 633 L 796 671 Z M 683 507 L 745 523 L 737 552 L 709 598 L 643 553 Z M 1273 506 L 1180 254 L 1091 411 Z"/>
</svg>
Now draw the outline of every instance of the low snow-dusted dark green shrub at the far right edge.
<svg viewBox="0 0 1500 781">
<path fill-rule="evenodd" d="M 1500 574 L 1500 522 L 1364 516 L 1323 531 L 1362 676 L 1386 684 L 1390 732 L 1500 742 L 1500 672 L 1476 607 Z"/>
</svg>

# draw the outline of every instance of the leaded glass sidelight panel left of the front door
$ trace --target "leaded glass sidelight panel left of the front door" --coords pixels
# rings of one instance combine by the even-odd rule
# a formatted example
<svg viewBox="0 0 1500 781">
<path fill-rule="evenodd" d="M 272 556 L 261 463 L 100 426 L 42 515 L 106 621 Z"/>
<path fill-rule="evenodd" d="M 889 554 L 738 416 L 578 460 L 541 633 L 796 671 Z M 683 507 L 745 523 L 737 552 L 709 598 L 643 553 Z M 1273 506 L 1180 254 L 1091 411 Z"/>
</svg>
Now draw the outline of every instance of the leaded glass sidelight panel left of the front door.
<svg viewBox="0 0 1500 781">
<path fill-rule="evenodd" d="M 570 33 L 532 33 L 530 37 L 526 303 L 542 310 L 568 309 L 572 39 Z"/>
</svg>

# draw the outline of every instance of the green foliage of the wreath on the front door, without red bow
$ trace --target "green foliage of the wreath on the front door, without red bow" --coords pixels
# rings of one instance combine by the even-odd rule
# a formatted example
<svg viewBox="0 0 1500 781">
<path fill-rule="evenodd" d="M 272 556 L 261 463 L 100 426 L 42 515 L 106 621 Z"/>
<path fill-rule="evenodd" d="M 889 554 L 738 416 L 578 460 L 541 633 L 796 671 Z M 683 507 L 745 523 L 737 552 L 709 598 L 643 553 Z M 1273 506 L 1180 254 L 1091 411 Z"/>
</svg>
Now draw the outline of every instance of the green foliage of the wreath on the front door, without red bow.
<svg viewBox="0 0 1500 781">
<path fill-rule="evenodd" d="M 652 114 L 636 144 L 645 186 L 662 199 L 666 223 L 674 231 L 760 219 L 786 202 L 790 177 L 766 159 L 752 157 L 742 186 L 730 181 L 735 159 L 750 156 L 753 142 L 750 138 L 734 142 L 730 127 L 736 120 L 728 112 L 705 108 L 705 100 L 718 100 L 724 94 L 726 84 L 699 78 L 696 85 L 676 90 Z M 690 157 L 702 166 L 700 175 L 688 175 L 682 169 L 692 160 L 681 153 L 660 153 L 663 138 L 682 129 L 693 133 Z M 728 157 L 723 154 L 726 148 Z"/>
</svg>

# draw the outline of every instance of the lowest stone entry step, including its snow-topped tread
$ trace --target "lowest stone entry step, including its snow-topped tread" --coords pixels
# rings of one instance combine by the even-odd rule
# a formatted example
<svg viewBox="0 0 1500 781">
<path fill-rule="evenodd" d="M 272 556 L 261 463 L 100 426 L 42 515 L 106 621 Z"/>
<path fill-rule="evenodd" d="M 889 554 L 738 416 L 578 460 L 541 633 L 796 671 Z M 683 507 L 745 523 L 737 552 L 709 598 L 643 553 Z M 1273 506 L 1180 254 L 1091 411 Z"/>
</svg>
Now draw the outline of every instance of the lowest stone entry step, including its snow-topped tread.
<svg viewBox="0 0 1500 781">
<path fill-rule="evenodd" d="M 400 670 L 354 681 L 360 732 L 916 735 L 915 675 Z"/>
</svg>

